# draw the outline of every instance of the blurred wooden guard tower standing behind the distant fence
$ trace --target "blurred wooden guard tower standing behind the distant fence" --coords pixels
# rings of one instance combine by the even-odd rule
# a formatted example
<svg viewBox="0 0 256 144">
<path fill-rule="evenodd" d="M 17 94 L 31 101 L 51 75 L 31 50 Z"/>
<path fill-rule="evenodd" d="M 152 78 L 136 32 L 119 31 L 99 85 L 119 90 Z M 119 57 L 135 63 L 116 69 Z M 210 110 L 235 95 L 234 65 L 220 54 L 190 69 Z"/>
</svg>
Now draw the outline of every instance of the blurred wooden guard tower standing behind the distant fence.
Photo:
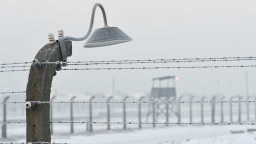
<svg viewBox="0 0 256 144">
<path fill-rule="evenodd" d="M 152 79 L 152 89 L 149 95 L 150 101 L 167 101 L 176 100 L 176 87 L 175 80 L 177 76 L 164 76 Z M 149 103 L 146 121 L 151 115 L 152 120 L 157 122 L 160 114 L 165 115 L 166 122 L 170 113 L 176 114 L 176 108 L 174 103 Z"/>
</svg>

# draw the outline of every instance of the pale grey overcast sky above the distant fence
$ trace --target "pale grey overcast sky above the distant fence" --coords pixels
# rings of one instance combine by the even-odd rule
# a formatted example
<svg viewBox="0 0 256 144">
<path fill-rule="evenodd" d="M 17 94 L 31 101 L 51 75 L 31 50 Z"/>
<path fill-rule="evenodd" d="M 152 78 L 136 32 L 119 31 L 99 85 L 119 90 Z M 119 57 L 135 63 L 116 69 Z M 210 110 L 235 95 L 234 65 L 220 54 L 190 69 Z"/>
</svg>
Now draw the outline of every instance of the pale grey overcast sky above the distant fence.
<svg viewBox="0 0 256 144">
<path fill-rule="evenodd" d="M 69 61 L 255 56 L 255 0 L 0 0 L 0 63 L 32 61 L 48 42 L 47 34 L 57 37 L 58 29 L 63 29 L 65 36 L 83 36 L 95 2 L 104 6 L 109 26 L 119 27 L 134 40 L 98 48 L 83 48 L 85 41 L 73 41 Z M 93 29 L 102 26 L 97 8 Z M 165 66 L 252 64 L 255 62 Z M 110 93 L 112 76 L 115 91 L 149 92 L 151 78 L 176 75 L 178 96 L 211 96 L 217 89 L 226 96 L 244 95 L 246 71 L 249 94 L 254 94 L 255 67 L 59 71 L 53 78 L 52 92 Z M 0 92 L 25 90 L 27 77 L 28 71 L 1 72 Z"/>
</svg>

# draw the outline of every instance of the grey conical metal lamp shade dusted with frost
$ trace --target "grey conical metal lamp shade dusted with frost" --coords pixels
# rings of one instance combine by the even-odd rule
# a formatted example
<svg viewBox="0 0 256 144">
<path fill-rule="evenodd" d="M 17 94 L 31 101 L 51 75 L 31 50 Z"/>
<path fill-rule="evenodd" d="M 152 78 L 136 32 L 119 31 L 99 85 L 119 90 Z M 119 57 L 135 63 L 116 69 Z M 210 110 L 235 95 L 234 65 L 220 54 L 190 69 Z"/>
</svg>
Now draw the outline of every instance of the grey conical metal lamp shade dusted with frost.
<svg viewBox="0 0 256 144">
<path fill-rule="evenodd" d="M 118 27 L 104 26 L 102 28 L 95 29 L 88 40 L 83 44 L 83 47 L 107 46 L 131 40 L 132 38 Z"/>
</svg>

